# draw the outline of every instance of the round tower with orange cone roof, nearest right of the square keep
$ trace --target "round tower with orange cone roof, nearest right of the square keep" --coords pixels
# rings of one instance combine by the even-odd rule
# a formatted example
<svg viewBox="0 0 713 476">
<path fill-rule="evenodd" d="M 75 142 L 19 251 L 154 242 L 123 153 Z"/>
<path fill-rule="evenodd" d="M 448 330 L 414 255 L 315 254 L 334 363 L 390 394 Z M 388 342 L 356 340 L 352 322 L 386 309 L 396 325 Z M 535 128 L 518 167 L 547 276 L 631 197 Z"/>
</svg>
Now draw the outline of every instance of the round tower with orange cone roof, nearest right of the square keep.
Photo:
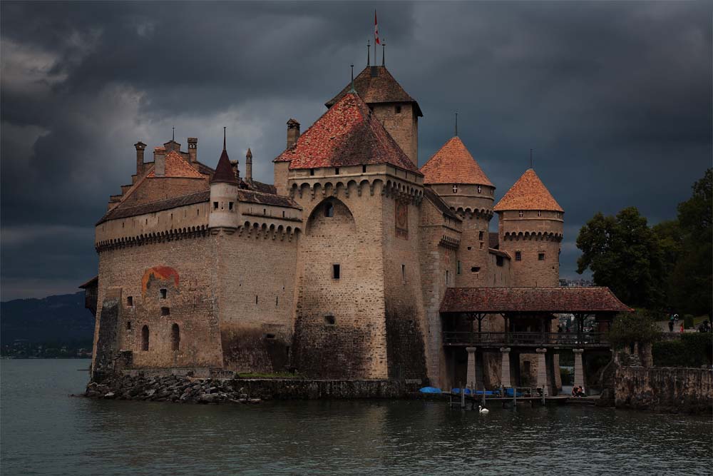
<svg viewBox="0 0 713 476">
<path fill-rule="evenodd" d="M 463 220 L 456 254 L 456 286 L 478 287 L 488 282 L 488 226 L 493 218 L 495 186 L 458 136 L 443 144 L 421 167 L 424 184 Z"/>
</svg>

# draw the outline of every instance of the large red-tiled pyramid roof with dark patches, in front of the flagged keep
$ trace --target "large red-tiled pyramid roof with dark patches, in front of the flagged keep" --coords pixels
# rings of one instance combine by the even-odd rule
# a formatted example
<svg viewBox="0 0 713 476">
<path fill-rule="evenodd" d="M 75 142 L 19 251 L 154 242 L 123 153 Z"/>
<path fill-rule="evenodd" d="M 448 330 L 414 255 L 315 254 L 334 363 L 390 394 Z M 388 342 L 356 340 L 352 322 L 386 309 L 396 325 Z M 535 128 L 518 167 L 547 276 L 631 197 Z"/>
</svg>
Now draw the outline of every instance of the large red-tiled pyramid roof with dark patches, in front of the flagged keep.
<svg viewBox="0 0 713 476">
<path fill-rule="evenodd" d="M 294 146 L 275 158 L 275 162 L 285 161 L 290 169 L 389 163 L 420 175 L 369 106 L 354 93 L 342 96 Z"/>
</svg>

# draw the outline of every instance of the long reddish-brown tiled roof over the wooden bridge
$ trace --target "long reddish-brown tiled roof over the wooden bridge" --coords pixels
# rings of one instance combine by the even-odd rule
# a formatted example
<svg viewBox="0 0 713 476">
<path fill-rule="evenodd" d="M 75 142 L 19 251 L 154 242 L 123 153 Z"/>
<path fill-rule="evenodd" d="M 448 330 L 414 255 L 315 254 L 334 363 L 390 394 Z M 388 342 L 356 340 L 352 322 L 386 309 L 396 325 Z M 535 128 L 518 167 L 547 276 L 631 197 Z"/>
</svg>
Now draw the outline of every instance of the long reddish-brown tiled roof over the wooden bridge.
<svg viewBox="0 0 713 476">
<path fill-rule="evenodd" d="M 609 288 L 448 288 L 441 313 L 630 312 Z"/>
</svg>

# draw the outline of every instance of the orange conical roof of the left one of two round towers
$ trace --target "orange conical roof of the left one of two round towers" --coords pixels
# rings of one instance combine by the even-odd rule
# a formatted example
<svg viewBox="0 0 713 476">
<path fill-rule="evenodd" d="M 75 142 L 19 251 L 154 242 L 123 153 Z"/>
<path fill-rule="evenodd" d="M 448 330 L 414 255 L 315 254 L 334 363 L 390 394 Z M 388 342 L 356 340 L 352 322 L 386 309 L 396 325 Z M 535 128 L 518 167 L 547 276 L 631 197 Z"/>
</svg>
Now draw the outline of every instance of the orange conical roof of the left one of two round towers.
<svg viewBox="0 0 713 476">
<path fill-rule="evenodd" d="M 472 183 L 493 186 L 461 138 L 455 136 L 421 167 L 424 183 Z"/>
</svg>

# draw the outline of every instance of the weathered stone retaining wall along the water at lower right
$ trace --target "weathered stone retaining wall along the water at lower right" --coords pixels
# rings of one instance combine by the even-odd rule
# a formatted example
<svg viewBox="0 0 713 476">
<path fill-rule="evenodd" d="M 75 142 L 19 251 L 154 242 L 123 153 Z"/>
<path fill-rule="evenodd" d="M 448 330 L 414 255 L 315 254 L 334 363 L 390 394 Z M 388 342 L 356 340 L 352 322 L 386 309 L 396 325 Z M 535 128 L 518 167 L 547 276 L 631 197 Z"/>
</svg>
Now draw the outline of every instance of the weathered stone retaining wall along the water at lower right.
<svg viewBox="0 0 713 476">
<path fill-rule="evenodd" d="M 619 367 L 614 393 L 617 408 L 673 413 L 712 412 L 713 370 Z"/>
</svg>

